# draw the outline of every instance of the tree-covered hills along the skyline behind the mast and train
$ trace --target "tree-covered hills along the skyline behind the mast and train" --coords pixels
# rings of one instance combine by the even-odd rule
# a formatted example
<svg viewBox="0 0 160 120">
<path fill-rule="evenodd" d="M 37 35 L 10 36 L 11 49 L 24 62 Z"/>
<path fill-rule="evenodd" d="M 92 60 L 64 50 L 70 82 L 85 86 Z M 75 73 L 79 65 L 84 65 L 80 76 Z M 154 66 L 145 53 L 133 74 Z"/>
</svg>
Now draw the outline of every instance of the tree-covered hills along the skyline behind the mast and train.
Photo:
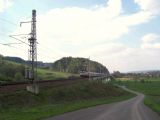
<svg viewBox="0 0 160 120">
<path fill-rule="evenodd" d="M 18 57 L 4 57 L 5 60 L 16 62 L 16 63 L 28 63 Z M 86 58 L 73 58 L 73 57 L 63 57 L 60 60 L 55 61 L 54 63 L 44 63 L 42 61 L 37 62 L 38 68 L 50 69 L 53 71 L 66 72 L 66 73 L 76 73 L 79 74 L 80 71 L 88 71 L 88 65 L 90 64 L 91 72 L 98 73 L 107 73 L 109 74 L 108 69 L 95 61 L 88 60 Z"/>
</svg>

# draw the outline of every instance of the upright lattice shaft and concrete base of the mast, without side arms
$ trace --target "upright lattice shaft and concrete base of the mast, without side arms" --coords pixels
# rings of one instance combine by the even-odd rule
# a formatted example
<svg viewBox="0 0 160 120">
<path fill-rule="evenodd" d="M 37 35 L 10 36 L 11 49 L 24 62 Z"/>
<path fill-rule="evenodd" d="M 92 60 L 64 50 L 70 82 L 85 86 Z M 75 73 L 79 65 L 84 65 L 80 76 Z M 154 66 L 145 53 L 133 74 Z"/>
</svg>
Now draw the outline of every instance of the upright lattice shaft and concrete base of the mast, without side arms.
<svg viewBox="0 0 160 120">
<path fill-rule="evenodd" d="M 23 22 L 26 23 L 26 22 Z M 38 94 L 39 87 L 36 84 L 37 80 L 37 38 L 36 38 L 36 10 L 32 10 L 32 20 L 31 20 L 31 34 L 28 39 L 29 42 L 29 64 L 30 68 L 28 70 L 28 79 L 31 80 L 32 85 L 27 86 L 27 90 Z"/>
</svg>

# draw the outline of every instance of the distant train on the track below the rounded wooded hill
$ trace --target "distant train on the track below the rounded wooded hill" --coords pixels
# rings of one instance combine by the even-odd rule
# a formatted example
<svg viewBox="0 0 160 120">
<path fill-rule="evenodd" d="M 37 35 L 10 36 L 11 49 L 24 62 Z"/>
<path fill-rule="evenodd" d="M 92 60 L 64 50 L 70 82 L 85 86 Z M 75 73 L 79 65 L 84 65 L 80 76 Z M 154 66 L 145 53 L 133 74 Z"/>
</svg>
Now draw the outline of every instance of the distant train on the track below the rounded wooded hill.
<svg viewBox="0 0 160 120">
<path fill-rule="evenodd" d="M 80 72 L 80 77 L 84 77 L 84 78 L 93 78 L 93 77 L 106 77 L 108 76 L 105 73 L 96 73 L 96 72 L 86 72 L 86 71 L 81 71 Z"/>
</svg>

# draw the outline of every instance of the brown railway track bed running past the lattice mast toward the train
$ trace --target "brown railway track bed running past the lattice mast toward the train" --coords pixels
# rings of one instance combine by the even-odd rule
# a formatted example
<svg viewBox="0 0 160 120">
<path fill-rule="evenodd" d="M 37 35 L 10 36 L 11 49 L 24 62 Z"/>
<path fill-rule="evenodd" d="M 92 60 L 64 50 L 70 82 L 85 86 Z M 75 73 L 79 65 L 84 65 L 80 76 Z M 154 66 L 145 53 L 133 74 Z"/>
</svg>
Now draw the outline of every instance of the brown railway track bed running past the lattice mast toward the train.
<svg viewBox="0 0 160 120">
<path fill-rule="evenodd" d="M 39 87 L 58 87 L 63 85 L 71 85 L 77 82 L 84 82 L 88 79 L 85 78 L 68 78 L 68 79 L 59 79 L 59 80 L 41 80 L 36 81 Z M 31 85 L 29 82 L 21 82 L 21 83 L 9 83 L 3 84 L 0 86 L 0 93 L 12 93 L 15 91 L 26 89 L 26 86 Z"/>
</svg>

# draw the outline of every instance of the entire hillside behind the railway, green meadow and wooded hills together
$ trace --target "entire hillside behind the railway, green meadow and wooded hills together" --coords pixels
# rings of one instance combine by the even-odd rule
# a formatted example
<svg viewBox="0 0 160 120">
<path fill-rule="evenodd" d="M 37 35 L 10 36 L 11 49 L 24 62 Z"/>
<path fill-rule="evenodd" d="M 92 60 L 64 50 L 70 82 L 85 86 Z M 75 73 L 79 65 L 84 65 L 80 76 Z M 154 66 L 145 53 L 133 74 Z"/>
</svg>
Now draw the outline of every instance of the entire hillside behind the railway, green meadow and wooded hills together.
<svg viewBox="0 0 160 120">
<path fill-rule="evenodd" d="M 18 57 L 0 56 L 0 83 L 25 81 L 25 60 Z M 86 58 L 64 57 L 54 63 L 38 62 L 38 80 L 55 80 L 78 76 L 80 71 L 88 71 L 89 60 Z M 45 68 L 45 69 L 42 69 Z M 91 72 L 109 74 L 102 64 L 90 60 Z"/>
</svg>

